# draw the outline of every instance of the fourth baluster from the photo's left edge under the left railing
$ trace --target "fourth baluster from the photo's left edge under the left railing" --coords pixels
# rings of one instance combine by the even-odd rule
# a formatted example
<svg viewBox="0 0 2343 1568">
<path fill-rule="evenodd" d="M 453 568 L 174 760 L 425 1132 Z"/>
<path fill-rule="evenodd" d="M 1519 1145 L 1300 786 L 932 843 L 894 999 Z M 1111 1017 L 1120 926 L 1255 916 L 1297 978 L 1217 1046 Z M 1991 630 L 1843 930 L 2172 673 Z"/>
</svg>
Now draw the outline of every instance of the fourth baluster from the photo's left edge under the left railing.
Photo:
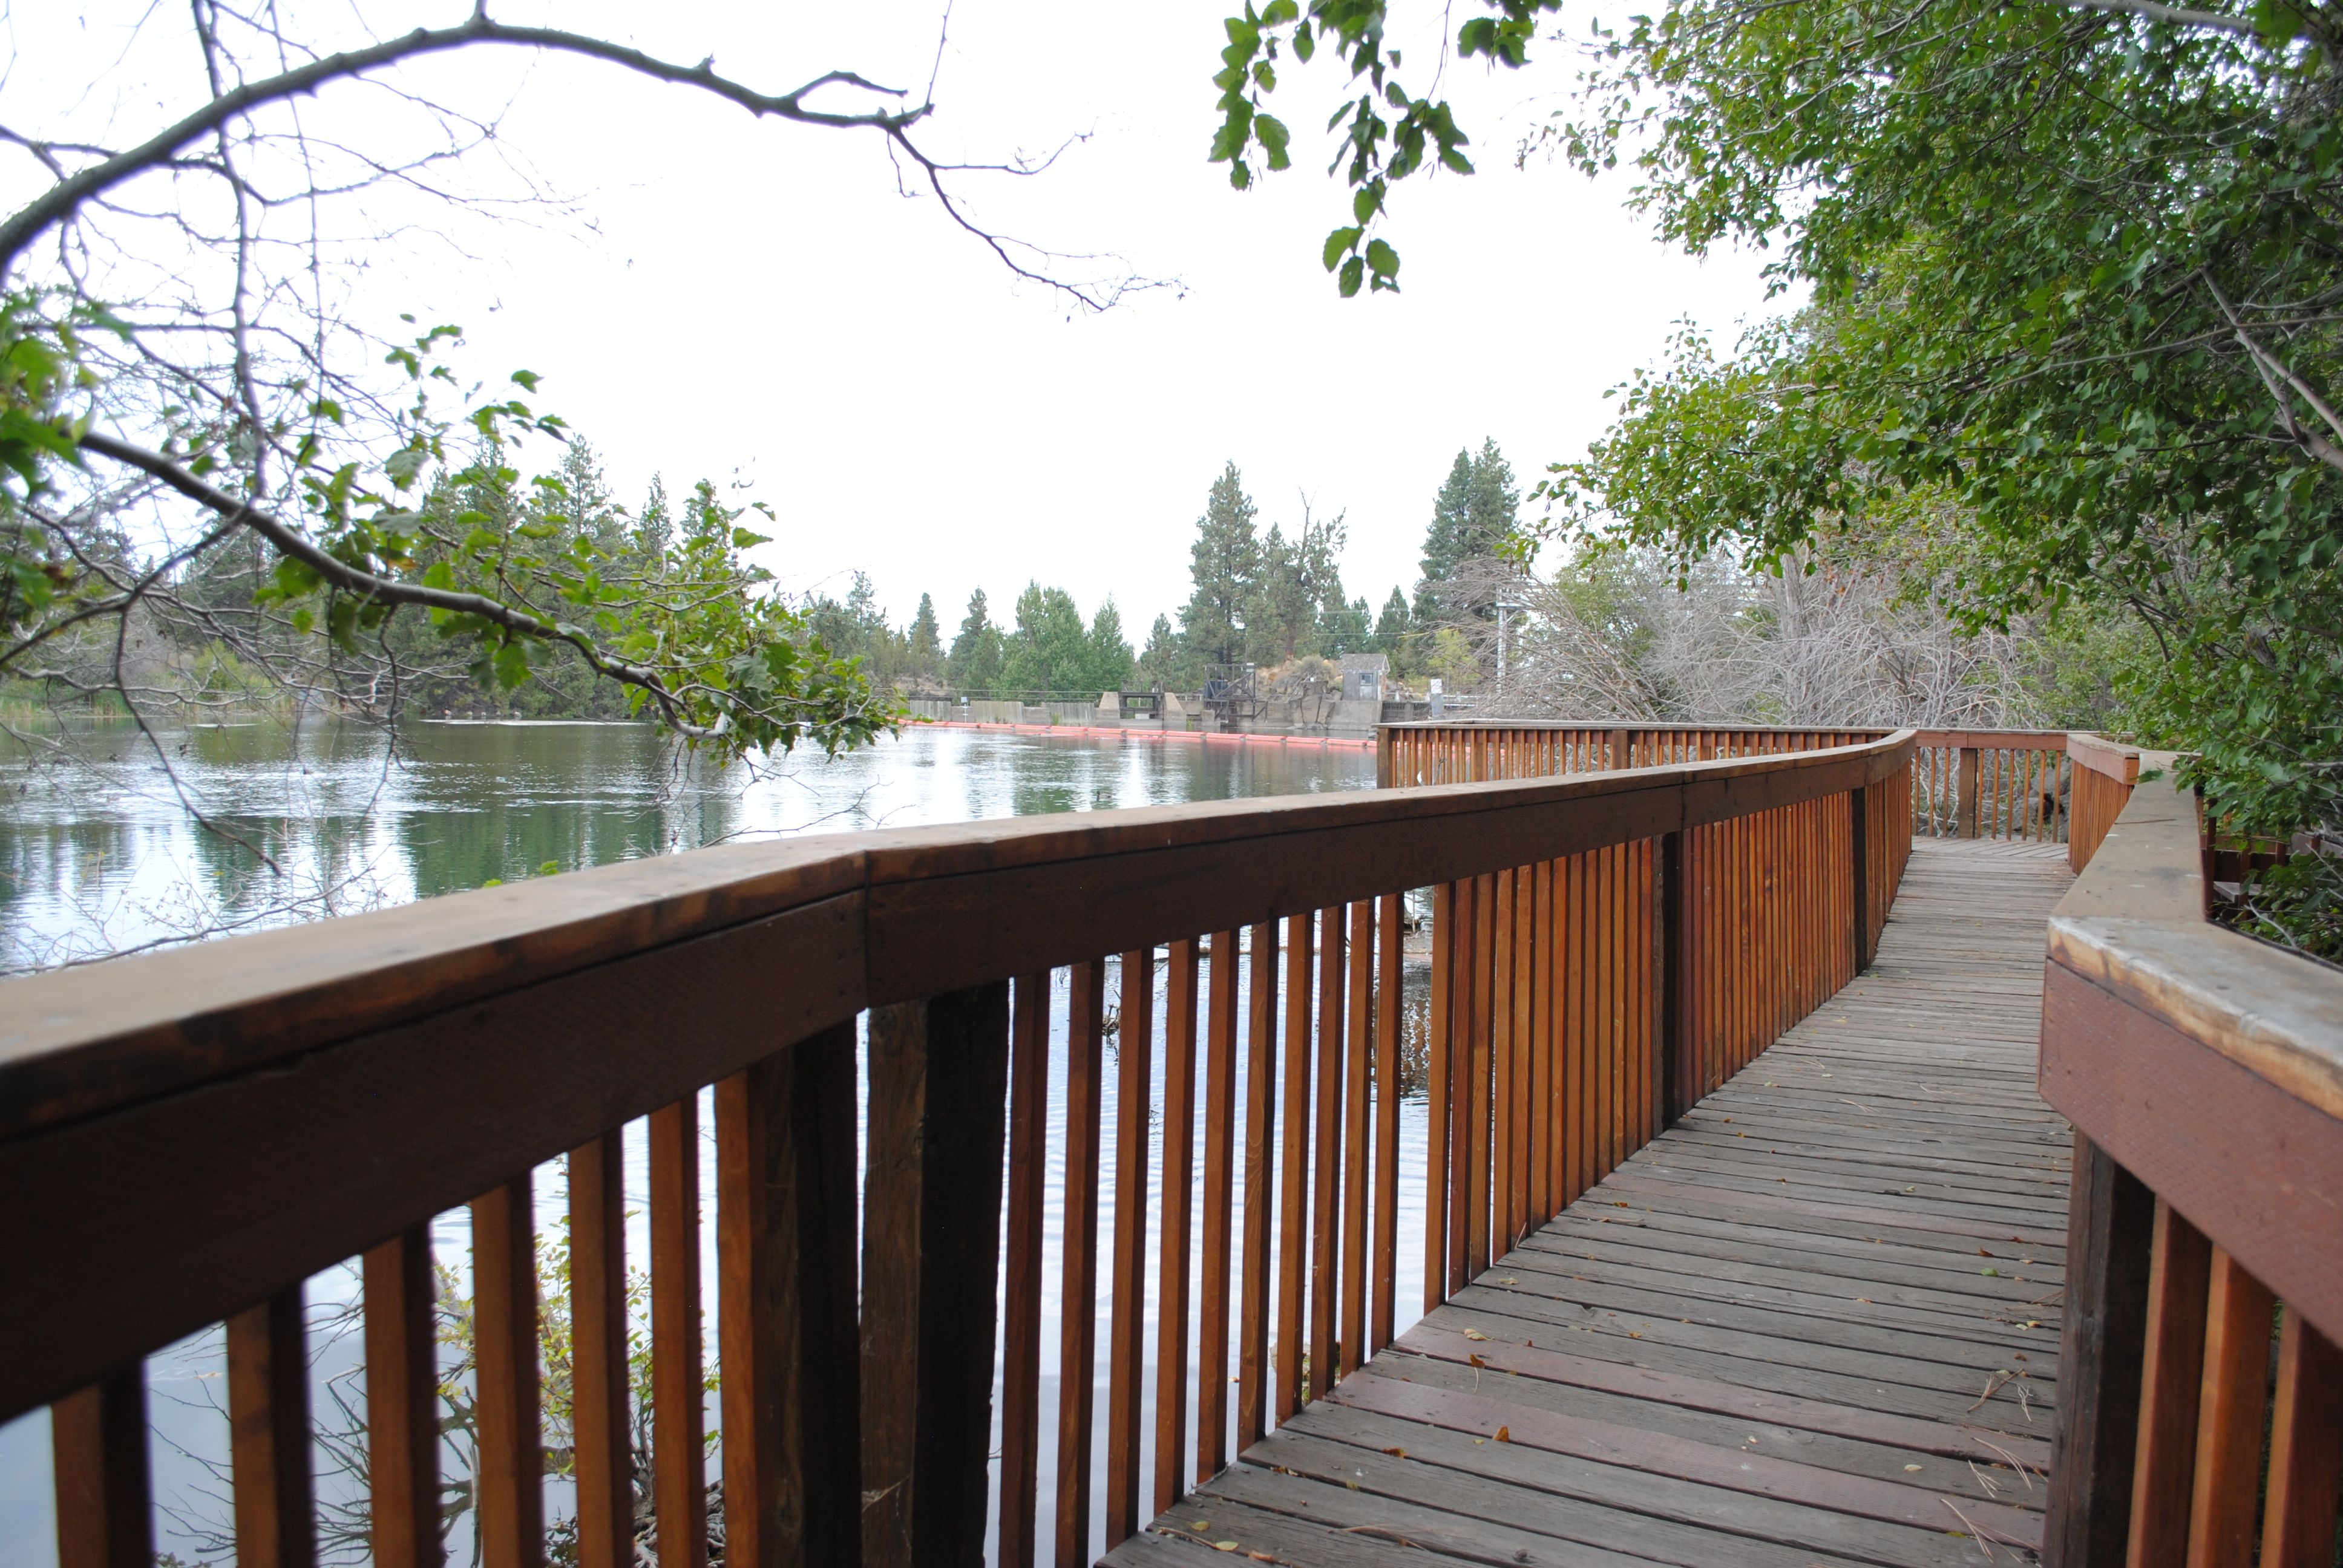
<svg viewBox="0 0 2343 1568">
<path fill-rule="evenodd" d="M 476 1519 L 485 1568 L 546 1561 L 546 1451 L 537 1369 L 532 1179 L 471 1200 L 471 1322 L 480 1460 Z"/>
</svg>

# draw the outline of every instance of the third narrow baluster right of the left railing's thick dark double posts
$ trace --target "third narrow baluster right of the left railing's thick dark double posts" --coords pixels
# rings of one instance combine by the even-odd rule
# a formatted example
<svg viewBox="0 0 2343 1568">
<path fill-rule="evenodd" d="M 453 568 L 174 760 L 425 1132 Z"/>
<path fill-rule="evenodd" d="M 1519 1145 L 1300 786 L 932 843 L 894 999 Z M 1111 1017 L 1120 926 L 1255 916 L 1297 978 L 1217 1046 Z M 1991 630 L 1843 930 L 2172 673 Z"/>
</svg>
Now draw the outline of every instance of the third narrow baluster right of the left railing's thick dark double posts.
<svg viewBox="0 0 2343 1568">
<path fill-rule="evenodd" d="M 1115 1038 L 1115 1261 L 1106 1334 L 1106 1549 L 1139 1530 L 1146 1371 L 1148 1104 L 1155 1088 L 1155 949 L 1122 954 Z"/>
</svg>

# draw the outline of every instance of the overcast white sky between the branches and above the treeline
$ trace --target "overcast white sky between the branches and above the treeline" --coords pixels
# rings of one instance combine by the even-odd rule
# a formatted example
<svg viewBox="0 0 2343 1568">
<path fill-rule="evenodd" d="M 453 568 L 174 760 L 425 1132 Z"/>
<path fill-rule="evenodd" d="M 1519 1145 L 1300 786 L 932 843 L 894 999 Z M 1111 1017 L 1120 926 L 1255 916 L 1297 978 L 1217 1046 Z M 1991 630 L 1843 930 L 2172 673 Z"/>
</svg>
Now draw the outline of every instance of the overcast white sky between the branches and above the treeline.
<svg viewBox="0 0 2343 1568">
<path fill-rule="evenodd" d="M 84 82 L 105 70 L 105 28 L 52 33 L 63 9 L 9 19 L 19 108 L 56 49 L 77 52 L 68 68 Z M 368 7 L 368 23 L 380 35 L 462 9 Z M 530 9 L 497 7 L 508 21 Z M 935 5 L 534 9 L 672 59 L 712 54 L 761 87 L 832 66 L 918 87 L 940 21 Z M 951 12 L 937 150 L 1003 157 L 1087 134 L 1045 176 L 963 178 L 970 206 L 1019 237 L 1179 281 L 1104 316 L 1012 279 L 935 202 L 902 199 L 876 138 L 759 124 L 684 89 L 520 54 L 415 66 L 405 82 L 508 98 L 506 143 L 581 197 L 590 227 L 504 225 L 469 237 L 478 260 L 464 265 L 389 246 L 361 305 L 382 323 L 398 309 L 464 323 L 476 370 L 544 373 L 544 403 L 602 450 L 626 499 L 654 471 L 670 488 L 752 480 L 783 525 L 766 565 L 792 588 L 843 591 L 860 567 L 897 621 L 935 593 L 949 635 L 972 586 L 998 616 L 1040 577 L 1085 612 L 1113 593 L 1134 642 L 1186 598 L 1195 516 L 1225 459 L 1263 523 L 1291 527 L 1303 495 L 1347 513 L 1345 584 L 1380 605 L 1413 584 L 1460 445 L 1495 436 L 1528 485 L 1600 434 L 1603 391 L 1654 363 L 1673 321 L 1729 335 L 1767 309 L 1755 258 L 1661 248 L 1624 211 L 1624 178 L 1514 169 L 1514 145 L 1570 84 L 1553 42 L 1525 73 L 1450 63 L 1443 94 L 1481 173 L 1401 188 L 1389 237 L 1403 293 L 1340 300 L 1319 241 L 1345 192 L 1324 176 L 1317 127 L 1343 73 L 1331 56 L 1286 73 L 1296 169 L 1232 192 L 1204 162 L 1228 9 Z M 349 9 L 323 14 L 347 26 Z M 1586 16 L 1567 26 L 1584 33 Z M 1439 21 L 1420 9 L 1410 61 L 1432 59 Z M 1425 80 L 1420 66 L 1408 75 Z M 117 98 L 115 136 L 159 122 L 162 98 Z"/>
</svg>

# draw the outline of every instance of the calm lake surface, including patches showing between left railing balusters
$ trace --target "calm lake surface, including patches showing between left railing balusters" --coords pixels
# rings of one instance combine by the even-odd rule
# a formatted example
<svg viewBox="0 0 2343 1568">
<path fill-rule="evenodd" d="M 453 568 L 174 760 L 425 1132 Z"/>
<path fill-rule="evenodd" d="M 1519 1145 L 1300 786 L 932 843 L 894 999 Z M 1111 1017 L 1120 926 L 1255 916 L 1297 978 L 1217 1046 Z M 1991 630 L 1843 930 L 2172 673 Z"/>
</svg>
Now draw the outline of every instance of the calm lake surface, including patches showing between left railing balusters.
<svg viewBox="0 0 2343 1568">
<path fill-rule="evenodd" d="M 284 921 L 288 900 L 300 916 L 478 888 L 490 879 L 569 872 L 640 855 L 675 853 L 745 837 L 843 832 L 958 823 L 1043 811 L 1097 811 L 1256 795 L 1373 788 L 1373 752 L 1354 748 L 1279 748 L 1200 741 L 1057 738 L 1040 734 L 911 729 L 902 738 L 839 759 L 794 757 L 757 773 L 710 773 L 675 766 L 656 736 L 623 724 L 424 724 L 398 755 L 354 729 L 281 724 L 192 729 L 159 736 L 178 783 L 129 727 L 45 734 L 0 755 L 0 954 L 9 968 L 119 952 L 190 930 Z M 216 825 L 190 820 L 185 799 Z M 251 848 L 246 848 L 251 846 Z M 276 870 L 253 855 L 267 853 Z M 1239 966 L 1242 970 L 1242 966 Z M 1282 973 L 1282 966 L 1279 966 Z M 1408 973 L 1420 1005 L 1422 973 Z M 1113 1001 L 1118 977 L 1108 975 Z M 1239 1005 L 1244 1005 L 1239 1001 Z M 1410 1008 L 1413 1013 L 1413 1008 Z M 1418 1020 L 1408 1020 L 1418 1034 Z M 1057 1458 L 1057 1345 L 1061 1303 L 1057 1259 L 1064 1242 L 1064 1038 L 1066 987 L 1054 989 L 1047 1151 L 1050 1207 L 1043 1303 L 1043 1519 L 1050 1516 Z M 1148 1073 L 1150 1144 L 1162 1137 L 1162 984 L 1157 982 L 1157 1052 Z M 1239 1076 L 1242 1085 L 1242 1076 Z M 1120 1062 L 1108 1052 L 1101 1170 L 1113 1170 Z M 1239 1088 L 1242 1092 L 1242 1088 Z M 1202 1095 L 1197 1095 L 1202 1099 Z M 1242 1125 L 1242 1102 L 1239 1102 Z M 1202 1123 L 1202 1106 L 1197 1111 Z M 703 1095 L 701 1191 L 703 1277 L 715 1317 L 715 1146 Z M 1401 1280 L 1399 1322 L 1415 1317 L 1422 1261 L 1420 1099 L 1401 1104 Z M 1195 1146 L 1202 1151 L 1202 1130 Z M 649 1200 L 642 1127 L 628 1130 L 630 1256 L 647 1256 Z M 1242 1184 L 1242 1174 L 1239 1174 Z M 1150 1181 L 1148 1259 L 1157 1256 L 1160 1170 Z M 539 1230 L 562 1226 L 562 1172 L 537 1174 Z M 1244 1202 L 1242 1186 L 1237 1202 Z M 1113 1235 L 1113 1191 L 1101 1193 L 1101 1245 Z M 1242 1207 L 1239 1207 L 1242 1212 Z M 1200 1230 L 1200 1226 L 1197 1226 Z M 469 1291 L 464 1212 L 433 1226 L 436 1254 Z M 1197 1245 L 1202 1240 L 1197 1238 Z M 309 1284 L 312 1409 L 321 1432 L 319 1493 L 328 1519 L 358 1526 L 363 1498 L 333 1453 L 337 1434 L 356 1432 L 363 1371 L 356 1357 L 351 1270 Z M 1153 1287 L 1150 1287 L 1153 1301 Z M 1097 1409 L 1104 1425 L 1104 1282 L 1097 1343 Z M 1155 1329 L 1146 1331 L 1153 1352 Z M 710 1355 L 715 1324 L 710 1322 Z M 185 1563 L 230 1561 L 225 1369 L 218 1331 L 197 1334 L 148 1364 L 157 1547 Z M 1146 1388 L 1153 1390 L 1153 1369 Z M 710 1402 L 710 1427 L 715 1402 Z M 1153 1420 L 1146 1423 L 1153 1432 Z M 1104 1467 L 1104 1439 L 1099 1441 Z M 450 1448 L 448 1477 L 469 1472 Z M 710 1472 L 715 1474 L 715 1472 Z M 1141 1474 L 1153 1474 L 1150 1465 Z M 1104 1470 L 1099 1474 L 1104 1484 Z M 52 1563 L 47 1416 L 0 1427 L 0 1540 L 7 1561 Z M 567 1486 L 548 1481 L 548 1516 L 569 1512 Z M 347 1530 L 344 1530 L 347 1535 Z M 471 1559 L 469 1528 L 450 1540 L 452 1561 Z M 361 1561 L 361 1540 L 330 1549 L 333 1561 Z"/>
</svg>

